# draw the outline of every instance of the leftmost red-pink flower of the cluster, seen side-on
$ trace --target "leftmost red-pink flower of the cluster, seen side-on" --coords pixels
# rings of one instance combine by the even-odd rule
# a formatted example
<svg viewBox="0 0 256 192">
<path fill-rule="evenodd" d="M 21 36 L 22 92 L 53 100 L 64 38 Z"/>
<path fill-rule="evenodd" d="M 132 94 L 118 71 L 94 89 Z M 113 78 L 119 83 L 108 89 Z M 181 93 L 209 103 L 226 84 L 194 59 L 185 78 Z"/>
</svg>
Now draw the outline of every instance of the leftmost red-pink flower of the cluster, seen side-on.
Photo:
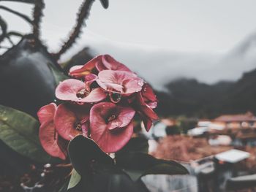
<svg viewBox="0 0 256 192">
<path fill-rule="evenodd" d="M 51 103 L 42 107 L 38 112 L 41 123 L 39 127 L 39 140 L 44 150 L 53 157 L 67 158 L 67 141 L 57 134 L 53 123 L 56 112 L 56 104 Z"/>
</svg>

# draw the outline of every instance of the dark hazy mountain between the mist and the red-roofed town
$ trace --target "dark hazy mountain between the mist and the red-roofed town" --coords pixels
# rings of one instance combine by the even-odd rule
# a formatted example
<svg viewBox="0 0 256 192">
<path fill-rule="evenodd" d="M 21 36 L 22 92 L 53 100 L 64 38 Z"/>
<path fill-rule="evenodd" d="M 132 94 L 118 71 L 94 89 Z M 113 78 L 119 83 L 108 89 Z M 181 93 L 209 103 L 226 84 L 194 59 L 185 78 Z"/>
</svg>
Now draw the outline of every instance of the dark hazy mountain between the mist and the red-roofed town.
<svg viewBox="0 0 256 192">
<path fill-rule="evenodd" d="M 157 92 L 161 115 L 216 118 L 222 114 L 256 113 L 256 69 L 236 82 L 214 85 L 180 79 L 167 84 L 168 93 Z"/>
</svg>

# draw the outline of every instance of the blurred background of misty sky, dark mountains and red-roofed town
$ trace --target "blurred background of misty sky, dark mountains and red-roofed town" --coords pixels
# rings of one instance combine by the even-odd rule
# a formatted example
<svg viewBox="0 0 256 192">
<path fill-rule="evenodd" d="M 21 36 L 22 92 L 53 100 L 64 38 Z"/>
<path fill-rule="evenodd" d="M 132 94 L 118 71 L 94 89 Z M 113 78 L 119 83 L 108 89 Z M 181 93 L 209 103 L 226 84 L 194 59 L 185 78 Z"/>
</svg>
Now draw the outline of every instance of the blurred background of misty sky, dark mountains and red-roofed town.
<svg viewBox="0 0 256 192">
<path fill-rule="evenodd" d="M 0 4 L 24 14 L 32 9 L 29 4 Z M 60 49 L 80 4 L 45 0 L 40 25 L 48 52 Z M 161 118 L 144 133 L 150 153 L 183 162 L 193 176 L 183 183 L 174 176 L 147 177 L 148 186 L 159 180 L 160 189 L 151 186 L 151 191 L 255 190 L 255 7 L 254 0 L 110 0 L 109 8 L 102 9 L 95 1 L 80 39 L 61 55 L 61 66 L 113 55 L 156 91 Z M 0 11 L 10 30 L 31 32 L 23 20 Z M 170 186 L 173 180 L 176 187 Z"/>
</svg>

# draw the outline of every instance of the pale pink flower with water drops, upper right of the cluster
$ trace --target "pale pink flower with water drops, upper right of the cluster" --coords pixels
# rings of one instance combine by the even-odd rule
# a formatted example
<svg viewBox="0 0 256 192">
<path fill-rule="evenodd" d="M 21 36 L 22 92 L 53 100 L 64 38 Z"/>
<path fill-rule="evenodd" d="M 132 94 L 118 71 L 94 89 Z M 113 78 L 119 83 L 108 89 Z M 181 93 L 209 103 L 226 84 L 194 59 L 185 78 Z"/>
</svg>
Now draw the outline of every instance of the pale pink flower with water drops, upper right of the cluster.
<svg viewBox="0 0 256 192">
<path fill-rule="evenodd" d="M 132 72 L 104 70 L 97 83 L 106 91 L 129 95 L 141 91 L 143 80 Z"/>
</svg>

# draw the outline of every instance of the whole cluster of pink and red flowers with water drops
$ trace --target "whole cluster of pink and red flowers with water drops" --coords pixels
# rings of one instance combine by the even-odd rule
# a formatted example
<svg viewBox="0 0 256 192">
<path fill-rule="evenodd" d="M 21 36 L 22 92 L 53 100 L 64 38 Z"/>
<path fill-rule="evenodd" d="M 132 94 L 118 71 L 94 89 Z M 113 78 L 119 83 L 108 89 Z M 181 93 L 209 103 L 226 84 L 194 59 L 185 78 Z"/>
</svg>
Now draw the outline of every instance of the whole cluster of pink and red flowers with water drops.
<svg viewBox="0 0 256 192">
<path fill-rule="evenodd" d="M 157 98 L 150 85 L 110 55 L 99 55 L 73 66 L 56 88 L 61 104 L 51 103 L 37 113 L 42 147 L 55 157 L 67 157 L 67 143 L 78 134 L 90 137 L 105 153 L 124 147 L 140 115 L 148 131 L 157 120 Z"/>
</svg>

